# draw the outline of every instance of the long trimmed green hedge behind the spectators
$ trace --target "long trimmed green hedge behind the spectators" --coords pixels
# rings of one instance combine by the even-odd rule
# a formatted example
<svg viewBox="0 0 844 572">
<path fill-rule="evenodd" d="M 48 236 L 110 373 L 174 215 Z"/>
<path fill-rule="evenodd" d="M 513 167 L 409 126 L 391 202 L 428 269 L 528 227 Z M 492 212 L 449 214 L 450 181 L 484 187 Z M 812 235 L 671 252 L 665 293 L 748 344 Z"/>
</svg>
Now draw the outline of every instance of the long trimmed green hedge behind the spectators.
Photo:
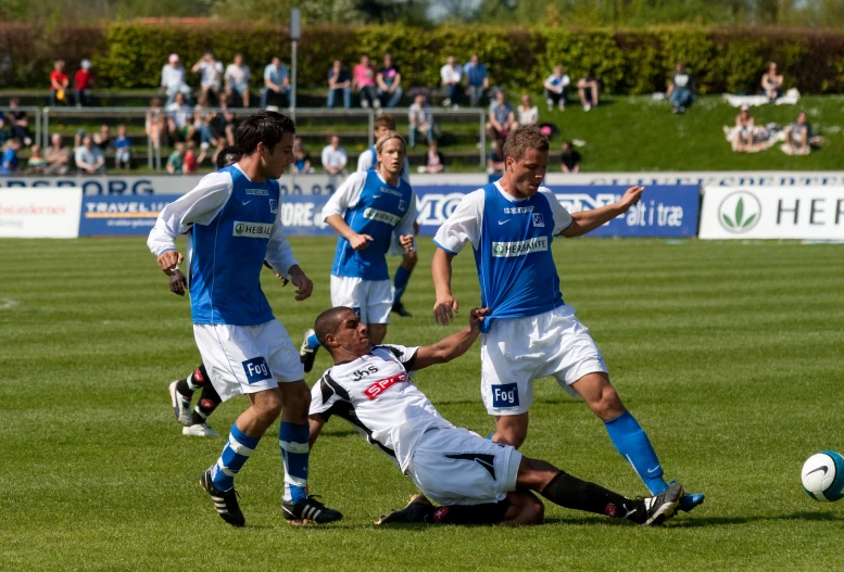
<svg viewBox="0 0 844 572">
<path fill-rule="evenodd" d="M 0 87 L 46 88 L 52 60 L 72 69 L 79 60 L 95 63 L 100 87 L 155 88 L 171 52 L 186 66 L 213 49 L 223 62 L 242 52 L 261 85 L 273 55 L 290 61 L 287 29 L 265 24 L 209 22 L 193 25 L 113 23 L 105 27 L 34 30 L 0 25 Z M 609 93 L 651 93 L 665 89 L 677 60 L 695 73 L 702 93 L 756 92 L 765 63 L 773 60 L 786 87 L 806 93 L 844 92 L 844 33 L 803 29 L 736 29 L 686 26 L 640 29 L 506 29 L 404 26 L 306 26 L 299 42 L 299 81 L 324 86 L 333 59 L 354 65 L 362 53 L 378 63 L 390 52 L 407 86 L 439 85 L 446 55 L 458 61 L 478 53 L 491 82 L 511 88 L 541 82 L 556 63 L 572 79 L 594 69 Z M 190 79 L 198 82 L 199 78 Z"/>
</svg>

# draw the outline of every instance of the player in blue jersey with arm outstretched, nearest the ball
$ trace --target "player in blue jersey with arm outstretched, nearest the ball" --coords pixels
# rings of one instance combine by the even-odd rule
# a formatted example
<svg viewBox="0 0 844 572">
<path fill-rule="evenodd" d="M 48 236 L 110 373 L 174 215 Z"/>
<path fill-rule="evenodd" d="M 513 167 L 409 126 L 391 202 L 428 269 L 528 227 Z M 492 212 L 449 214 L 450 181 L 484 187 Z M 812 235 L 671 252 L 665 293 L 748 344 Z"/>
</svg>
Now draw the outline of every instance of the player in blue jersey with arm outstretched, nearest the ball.
<svg viewBox="0 0 844 572">
<path fill-rule="evenodd" d="M 442 325 L 454 319 L 458 305 L 451 290 L 452 259 L 471 244 L 481 306 L 492 310 L 481 326 L 481 394 L 487 411 L 495 416 L 492 440 L 515 447 L 524 443 L 533 380 L 553 376 L 604 421 L 618 453 L 651 493 L 659 494 L 668 488 L 663 467 L 610 384 L 589 330 L 563 302 L 551 253 L 555 237 L 580 237 L 608 223 L 639 202 L 644 188 L 631 187 L 617 203 L 569 214 L 541 186 L 549 142 L 539 128 L 509 134 L 504 156 L 504 176 L 467 194 L 437 231 L 434 318 Z M 686 494 L 681 509 L 691 510 L 703 499 Z"/>
</svg>

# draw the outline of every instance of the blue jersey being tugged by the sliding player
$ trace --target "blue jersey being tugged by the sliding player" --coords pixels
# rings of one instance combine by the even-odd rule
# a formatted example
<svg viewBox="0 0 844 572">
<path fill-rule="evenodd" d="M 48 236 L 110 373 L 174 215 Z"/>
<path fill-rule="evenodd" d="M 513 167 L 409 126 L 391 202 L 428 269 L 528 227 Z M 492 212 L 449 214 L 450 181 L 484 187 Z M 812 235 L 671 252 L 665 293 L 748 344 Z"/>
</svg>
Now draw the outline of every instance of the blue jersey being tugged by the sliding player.
<svg viewBox="0 0 844 572">
<path fill-rule="evenodd" d="M 494 182 L 487 185 L 465 198 L 437 232 L 437 245 L 452 254 L 473 243 L 481 306 L 492 309 L 481 331 L 495 319 L 537 316 L 563 305 L 551 243 L 571 217 L 543 191 L 516 201 Z"/>
</svg>

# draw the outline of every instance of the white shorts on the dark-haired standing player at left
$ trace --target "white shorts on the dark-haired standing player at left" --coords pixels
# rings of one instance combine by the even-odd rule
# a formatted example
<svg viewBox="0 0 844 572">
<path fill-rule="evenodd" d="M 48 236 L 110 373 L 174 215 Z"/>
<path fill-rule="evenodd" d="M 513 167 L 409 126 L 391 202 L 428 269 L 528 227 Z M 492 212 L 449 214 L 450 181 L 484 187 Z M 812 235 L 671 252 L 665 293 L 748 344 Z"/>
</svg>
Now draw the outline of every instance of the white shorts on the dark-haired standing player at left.
<svg viewBox="0 0 844 572">
<path fill-rule="evenodd" d="M 299 351 L 278 320 L 259 326 L 194 323 L 193 338 L 224 402 L 304 378 Z"/>
</svg>

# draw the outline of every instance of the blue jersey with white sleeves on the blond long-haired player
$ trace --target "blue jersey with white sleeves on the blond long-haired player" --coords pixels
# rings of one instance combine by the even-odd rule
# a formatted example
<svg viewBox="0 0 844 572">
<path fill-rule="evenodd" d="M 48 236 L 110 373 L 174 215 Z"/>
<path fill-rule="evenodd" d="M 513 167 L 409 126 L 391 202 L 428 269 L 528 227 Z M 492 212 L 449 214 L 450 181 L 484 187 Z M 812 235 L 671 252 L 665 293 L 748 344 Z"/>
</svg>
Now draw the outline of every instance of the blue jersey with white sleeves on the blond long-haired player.
<svg viewBox="0 0 844 572">
<path fill-rule="evenodd" d="M 355 251 L 347 239 L 340 237 L 331 274 L 364 280 L 389 280 L 386 254 L 393 230 L 400 234 L 413 234 L 416 196 L 411 186 L 400 179 L 399 185 L 393 187 L 381 180 L 374 169 L 355 173 L 326 204 L 323 216 L 332 214 L 340 214 L 356 233 L 373 237 L 373 242 L 366 249 Z"/>
</svg>

